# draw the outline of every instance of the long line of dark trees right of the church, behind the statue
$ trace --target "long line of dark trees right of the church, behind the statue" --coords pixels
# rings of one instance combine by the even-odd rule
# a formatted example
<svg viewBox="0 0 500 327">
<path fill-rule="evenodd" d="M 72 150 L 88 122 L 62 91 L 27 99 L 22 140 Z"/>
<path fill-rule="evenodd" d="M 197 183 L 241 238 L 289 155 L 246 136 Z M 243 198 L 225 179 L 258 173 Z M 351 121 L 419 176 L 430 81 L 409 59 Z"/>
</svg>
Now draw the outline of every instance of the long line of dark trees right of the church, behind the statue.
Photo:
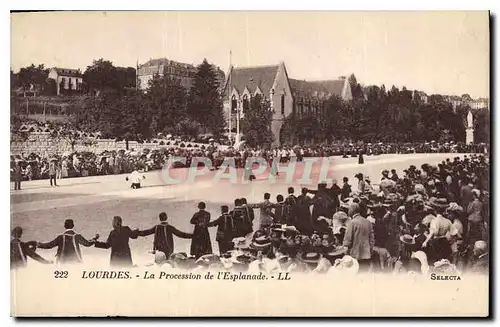
<svg viewBox="0 0 500 327">
<path fill-rule="evenodd" d="M 354 79 L 355 80 L 355 79 Z M 453 105 L 441 95 L 427 101 L 403 87 L 351 82 L 352 101 L 331 97 L 321 112 L 293 113 L 283 126 L 285 142 L 465 142 L 468 105 Z M 489 142 L 489 110 L 473 111 L 475 142 Z"/>
</svg>

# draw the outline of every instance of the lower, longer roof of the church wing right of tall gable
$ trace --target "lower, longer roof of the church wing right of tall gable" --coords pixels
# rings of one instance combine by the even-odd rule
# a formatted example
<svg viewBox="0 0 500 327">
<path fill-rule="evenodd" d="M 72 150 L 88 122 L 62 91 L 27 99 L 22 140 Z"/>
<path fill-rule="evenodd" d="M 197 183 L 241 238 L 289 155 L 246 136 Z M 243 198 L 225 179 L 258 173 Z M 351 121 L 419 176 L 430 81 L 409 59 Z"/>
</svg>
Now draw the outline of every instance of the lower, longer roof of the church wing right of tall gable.
<svg viewBox="0 0 500 327">
<path fill-rule="evenodd" d="M 289 79 L 290 88 L 295 97 L 342 96 L 345 80 L 304 81 Z"/>
</svg>

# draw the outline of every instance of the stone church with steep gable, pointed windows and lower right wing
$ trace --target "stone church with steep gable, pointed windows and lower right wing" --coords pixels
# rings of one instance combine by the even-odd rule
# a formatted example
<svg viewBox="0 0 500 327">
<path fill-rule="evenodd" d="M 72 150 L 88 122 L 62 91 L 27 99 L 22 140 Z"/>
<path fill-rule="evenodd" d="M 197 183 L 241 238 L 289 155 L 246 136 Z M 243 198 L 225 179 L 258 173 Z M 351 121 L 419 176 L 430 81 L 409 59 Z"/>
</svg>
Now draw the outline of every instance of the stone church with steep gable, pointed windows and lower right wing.
<svg viewBox="0 0 500 327">
<path fill-rule="evenodd" d="M 261 94 L 270 101 L 273 110 L 271 130 L 274 144 L 281 143 L 281 129 L 285 117 L 292 113 L 303 115 L 318 113 L 324 100 L 336 95 L 352 100 L 347 78 L 336 80 L 304 81 L 288 77 L 285 63 L 257 67 L 231 67 L 224 87 L 224 113 L 231 126 L 236 126 L 236 112 L 244 117 L 249 110 L 250 98 Z M 231 114 L 230 114 L 231 113 Z"/>
</svg>

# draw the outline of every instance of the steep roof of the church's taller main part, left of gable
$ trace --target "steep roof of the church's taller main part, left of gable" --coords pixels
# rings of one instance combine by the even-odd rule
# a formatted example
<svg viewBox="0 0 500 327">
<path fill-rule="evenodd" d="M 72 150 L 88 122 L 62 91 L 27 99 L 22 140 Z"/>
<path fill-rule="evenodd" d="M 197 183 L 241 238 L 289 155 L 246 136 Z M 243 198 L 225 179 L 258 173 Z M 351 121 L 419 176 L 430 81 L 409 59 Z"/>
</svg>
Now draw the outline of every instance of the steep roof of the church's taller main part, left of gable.
<svg viewBox="0 0 500 327">
<path fill-rule="evenodd" d="M 264 95 L 268 95 L 273 87 L 278 67 L 279 65 L 233 68 L 228 83 L 231 82 L 231 87 L 239 93 L 243 93 L 245 88 L 248 88 L 248 91 L 253 94 L 259 87 Z"/>
</svg>

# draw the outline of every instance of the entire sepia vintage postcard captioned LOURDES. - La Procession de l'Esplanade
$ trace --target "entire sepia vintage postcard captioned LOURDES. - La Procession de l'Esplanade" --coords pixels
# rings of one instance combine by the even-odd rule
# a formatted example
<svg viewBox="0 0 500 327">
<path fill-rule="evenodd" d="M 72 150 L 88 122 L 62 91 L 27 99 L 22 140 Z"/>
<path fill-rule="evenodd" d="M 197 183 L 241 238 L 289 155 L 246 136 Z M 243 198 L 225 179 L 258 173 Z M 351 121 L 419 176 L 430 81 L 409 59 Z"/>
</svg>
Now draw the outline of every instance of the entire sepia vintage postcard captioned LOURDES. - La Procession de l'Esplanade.
<svg viewBox="0 0 500 327">
<path fill-rule="evenodd" d="M 490 315 L 489 12 L 11 27 L 12 316 Z"/>
</svg>

